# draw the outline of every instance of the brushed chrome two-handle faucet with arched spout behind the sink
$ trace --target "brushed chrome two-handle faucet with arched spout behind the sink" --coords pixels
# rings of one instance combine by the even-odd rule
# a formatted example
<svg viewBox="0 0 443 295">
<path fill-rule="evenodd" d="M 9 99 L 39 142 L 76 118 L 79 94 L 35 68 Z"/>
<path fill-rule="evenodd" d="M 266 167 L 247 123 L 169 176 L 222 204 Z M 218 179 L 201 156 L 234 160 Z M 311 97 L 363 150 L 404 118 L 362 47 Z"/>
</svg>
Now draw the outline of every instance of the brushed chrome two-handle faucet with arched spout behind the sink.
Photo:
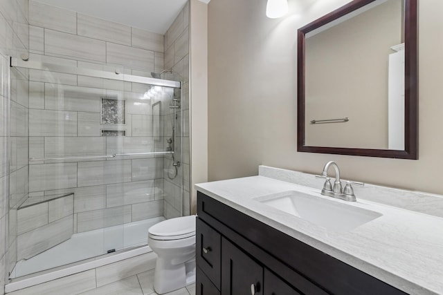
<svg viewBox="0 0 443 295">
<path fill-rule="evenodd" d="M 329 166 L 334 167 L 335 171 L 335 181 L 334 181 L 334 187 L 332 187 L 331 182 L 329 181 L 331 178 L 327 175 L 327 171 L 329 170 Z M 363 182 L 351 182 L 347 181 L 346 186 L 343 189 L 343 186 L 341 185 L 340 180 L 340 169 L 338 169 L 338 165 L 334 161 L 329 161 L 325 164 L 325 167 L 323 168 L 323 172 L 321 175 L 316 175 L 316 177 L 319 178 L 325 178 L 325 184 L 323 184 L 323 189 L 321 190 L 321 194 L 323 196 L 329 196 L 332 198 L 337 198 L 349 202 L 355 202 L 356 198 L 354 195 L 354 189 L 352 189 L 352 184 L 359 184 L 363 186 Z"/>
</svg>

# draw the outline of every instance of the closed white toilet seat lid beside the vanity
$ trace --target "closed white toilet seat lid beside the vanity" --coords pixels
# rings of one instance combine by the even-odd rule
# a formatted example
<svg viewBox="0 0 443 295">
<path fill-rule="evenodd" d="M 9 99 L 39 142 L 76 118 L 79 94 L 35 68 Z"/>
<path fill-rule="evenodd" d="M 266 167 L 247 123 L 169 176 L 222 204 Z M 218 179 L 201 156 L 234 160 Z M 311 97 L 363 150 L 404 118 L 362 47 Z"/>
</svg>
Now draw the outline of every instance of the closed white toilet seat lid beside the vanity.
<svg viewBox="0 0 443 295">
<path fill-rule="evenodd" d="M 195 215 L 171 218 L 153 225 L 151 236 L 184 238 L 195 234 Z"/>
</svg>

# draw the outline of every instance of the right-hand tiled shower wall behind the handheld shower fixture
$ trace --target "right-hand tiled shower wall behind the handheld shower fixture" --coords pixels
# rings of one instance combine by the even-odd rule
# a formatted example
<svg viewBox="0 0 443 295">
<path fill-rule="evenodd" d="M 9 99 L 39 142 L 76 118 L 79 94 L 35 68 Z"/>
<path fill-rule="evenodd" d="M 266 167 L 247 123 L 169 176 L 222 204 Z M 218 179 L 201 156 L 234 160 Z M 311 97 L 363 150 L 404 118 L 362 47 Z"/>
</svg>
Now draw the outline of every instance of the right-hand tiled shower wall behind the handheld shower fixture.
<svg viewBox="0 0 443 295">
<path fill-rule="evenodd" d="M 183 157 L 177 158 L 181 162 L 179 175 L 171 180 L 168 178 L 168 169 L 172 169 L 170 157 L 165 157 L 165 217 L 172 218 L 190 214 L 190 133 L 189 133 L 189 2 L 174 20 L 165 34 L 165 68 L 172 68 L 174 73 L 182 77 L 181 108 L 177 111 L 176 134 L 177 153 L 180 154 L 183 146 Z M 172 135 L 172 109 L 165 114 L 165 137 Z M 182 185 L 183 182 L 183 185 Z M 183 193 L 183 200 L 181 199 Z"/>
</svg>

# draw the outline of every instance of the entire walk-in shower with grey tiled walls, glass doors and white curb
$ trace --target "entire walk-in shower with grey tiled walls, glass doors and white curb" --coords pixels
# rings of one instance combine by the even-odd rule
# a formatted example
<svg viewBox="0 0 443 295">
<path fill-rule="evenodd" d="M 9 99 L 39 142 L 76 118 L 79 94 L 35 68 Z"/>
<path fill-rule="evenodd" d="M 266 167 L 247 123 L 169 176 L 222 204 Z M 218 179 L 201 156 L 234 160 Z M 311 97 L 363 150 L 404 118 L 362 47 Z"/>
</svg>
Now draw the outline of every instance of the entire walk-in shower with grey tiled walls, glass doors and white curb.
<svg viewBox="0 0 443 295">
<path fill-rule="evenodd" d="M 189 4 L 150 32 L 7 2 L 0 287 L 13 292 L 145 254 L 150 226 L 190 214 Z"/>
</svg>

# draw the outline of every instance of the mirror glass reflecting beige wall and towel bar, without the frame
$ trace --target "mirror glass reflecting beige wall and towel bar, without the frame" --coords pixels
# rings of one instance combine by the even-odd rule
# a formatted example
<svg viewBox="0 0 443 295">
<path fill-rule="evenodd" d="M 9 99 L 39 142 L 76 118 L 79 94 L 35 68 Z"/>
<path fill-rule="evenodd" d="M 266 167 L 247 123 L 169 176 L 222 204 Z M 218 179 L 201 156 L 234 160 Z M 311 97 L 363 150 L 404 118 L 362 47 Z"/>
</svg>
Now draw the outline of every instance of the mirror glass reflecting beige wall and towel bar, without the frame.
<svg viewBox="0 0 443 295">
<path fill-rule="evenodd" d="M 403 0 L 305 35 L 307 146 L 404 150 L 404 104 Z"/>
</svg>

